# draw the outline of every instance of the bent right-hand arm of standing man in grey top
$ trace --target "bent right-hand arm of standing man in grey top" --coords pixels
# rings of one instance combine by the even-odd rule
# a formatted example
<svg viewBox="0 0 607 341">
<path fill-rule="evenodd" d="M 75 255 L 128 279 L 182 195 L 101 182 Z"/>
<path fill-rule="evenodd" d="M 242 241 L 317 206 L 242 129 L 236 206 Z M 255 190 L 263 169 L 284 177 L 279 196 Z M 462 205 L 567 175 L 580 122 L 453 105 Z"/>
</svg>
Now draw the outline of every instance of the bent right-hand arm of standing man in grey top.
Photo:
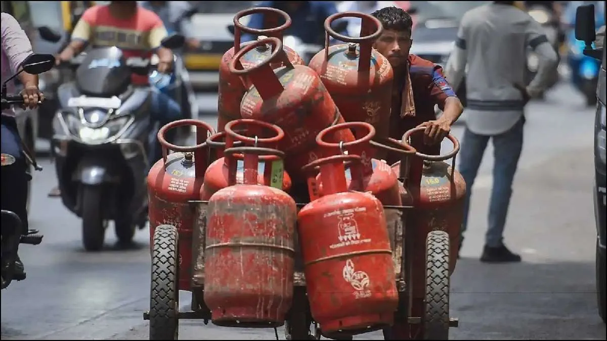
<svg viewBox="0 0 607 341">
<path fill-rule="evenodd" d="M 542 27 L 531 16 L 527 22 L 526 42 L 539 59 L 537 73 L 526 87 L 527 95 L 535 97 L 548 87 L 551 73 L 557 72 L 558 57 Z"/>
</svg>

